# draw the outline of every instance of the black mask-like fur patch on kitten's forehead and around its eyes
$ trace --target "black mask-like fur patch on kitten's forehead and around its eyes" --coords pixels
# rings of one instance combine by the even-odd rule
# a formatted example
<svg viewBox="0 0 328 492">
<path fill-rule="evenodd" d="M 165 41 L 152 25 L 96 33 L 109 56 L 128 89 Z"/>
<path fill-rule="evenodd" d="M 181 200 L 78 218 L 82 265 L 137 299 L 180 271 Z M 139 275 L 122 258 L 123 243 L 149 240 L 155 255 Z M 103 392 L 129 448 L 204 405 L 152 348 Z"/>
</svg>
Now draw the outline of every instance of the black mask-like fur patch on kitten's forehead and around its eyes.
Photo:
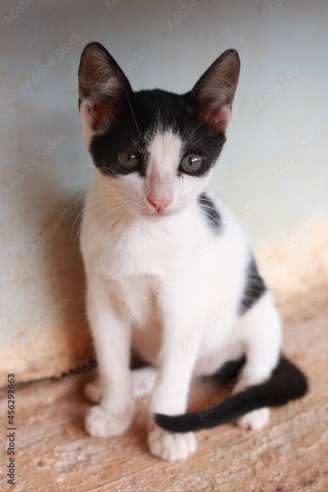
<svg viewBox="0 0 328 492">
<path fill-rule="evenodd" d="M 175 94 L 160 89 L 133 92 L 121 106 L 101 135 L 90 143 L 95 166 L 103 174 L 121 176 L 131 172 L 145 174 L 149 160 L 148 147 L 158 132 L 172 131 L 182 141 L 184 155 L 200 154 L 202 167 L 192 176 L 202 176 L 215 164 L 226 140 L 224 132 L 212 135 L 206 124 L 200 124 L 198 110 L 190 92 Z M 141 159 L 137 170 L 123 169 L 117 160 L 120 150 L 134 149 Z M 179 163 L 177 163 L 177 173 Z"/>
</svg>

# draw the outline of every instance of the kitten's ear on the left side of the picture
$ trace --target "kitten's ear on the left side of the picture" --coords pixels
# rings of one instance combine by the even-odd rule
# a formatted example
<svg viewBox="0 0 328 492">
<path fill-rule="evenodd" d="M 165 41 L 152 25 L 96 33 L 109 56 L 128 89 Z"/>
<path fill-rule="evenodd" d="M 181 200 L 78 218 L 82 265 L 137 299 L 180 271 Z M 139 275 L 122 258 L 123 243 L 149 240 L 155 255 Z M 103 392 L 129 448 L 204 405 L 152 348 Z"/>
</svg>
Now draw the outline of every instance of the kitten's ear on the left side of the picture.
<svg viewBox="0 0 328 492">
<path fill-rule="evenodd" d="M 87 44 L 79 66 L 79 110 L 87 133 L 101 133 L 129 93 L 129 81 L 106 48 Z"/>
</svg>

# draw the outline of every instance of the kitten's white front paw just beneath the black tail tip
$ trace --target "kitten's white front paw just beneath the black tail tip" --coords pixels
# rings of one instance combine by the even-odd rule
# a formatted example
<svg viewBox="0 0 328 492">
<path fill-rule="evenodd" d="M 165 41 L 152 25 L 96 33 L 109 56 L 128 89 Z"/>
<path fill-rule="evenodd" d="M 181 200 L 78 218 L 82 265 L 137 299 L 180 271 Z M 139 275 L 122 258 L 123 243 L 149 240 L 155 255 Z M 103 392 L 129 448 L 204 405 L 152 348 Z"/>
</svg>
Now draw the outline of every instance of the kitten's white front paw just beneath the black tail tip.
<svg viewBox="0 0 328 492">
<path fill-rule="evenodd" d="M 193 432 L 168 432 L 156 425 L 151 426 L 148 444 L 151 454 L 167 461 L 185 460 L 197 449 Z"/>
</svg>

